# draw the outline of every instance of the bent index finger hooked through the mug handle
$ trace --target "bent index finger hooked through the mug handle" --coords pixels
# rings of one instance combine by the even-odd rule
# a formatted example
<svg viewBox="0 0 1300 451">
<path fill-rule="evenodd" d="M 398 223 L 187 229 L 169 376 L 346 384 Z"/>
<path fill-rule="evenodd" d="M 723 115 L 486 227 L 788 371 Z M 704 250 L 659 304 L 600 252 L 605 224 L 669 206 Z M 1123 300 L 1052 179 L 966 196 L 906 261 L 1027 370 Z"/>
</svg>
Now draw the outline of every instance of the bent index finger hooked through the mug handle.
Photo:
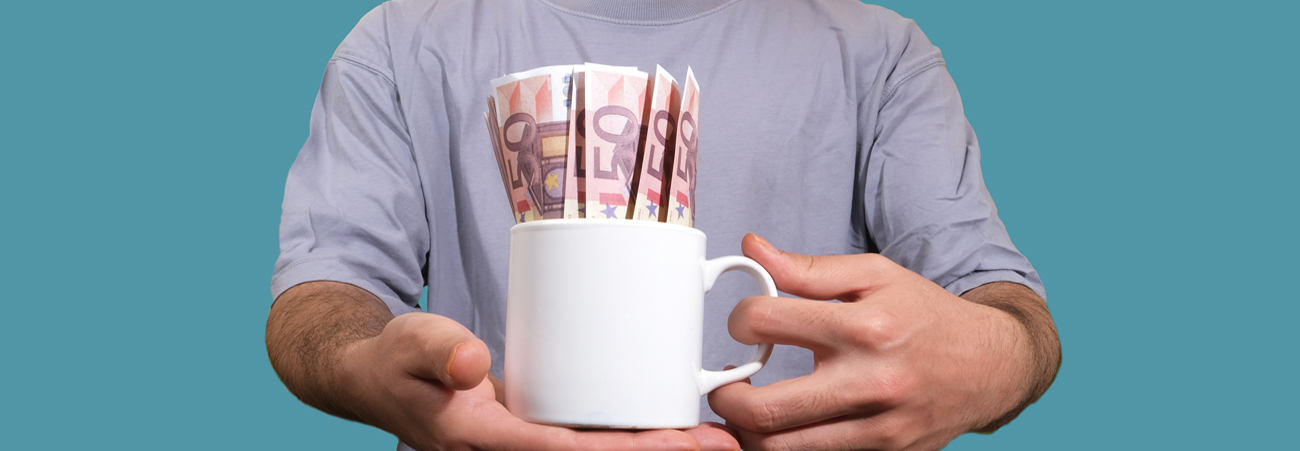
<svg viewBox="0 0 1300 451">
<path fill-rule="evenodd" d="M 732 338 L 745 344 L 793 344 L 827 352 L 837 344 L 845 304 L 754 296 L 741 300 L 727 318 Z"/>
</svg>

